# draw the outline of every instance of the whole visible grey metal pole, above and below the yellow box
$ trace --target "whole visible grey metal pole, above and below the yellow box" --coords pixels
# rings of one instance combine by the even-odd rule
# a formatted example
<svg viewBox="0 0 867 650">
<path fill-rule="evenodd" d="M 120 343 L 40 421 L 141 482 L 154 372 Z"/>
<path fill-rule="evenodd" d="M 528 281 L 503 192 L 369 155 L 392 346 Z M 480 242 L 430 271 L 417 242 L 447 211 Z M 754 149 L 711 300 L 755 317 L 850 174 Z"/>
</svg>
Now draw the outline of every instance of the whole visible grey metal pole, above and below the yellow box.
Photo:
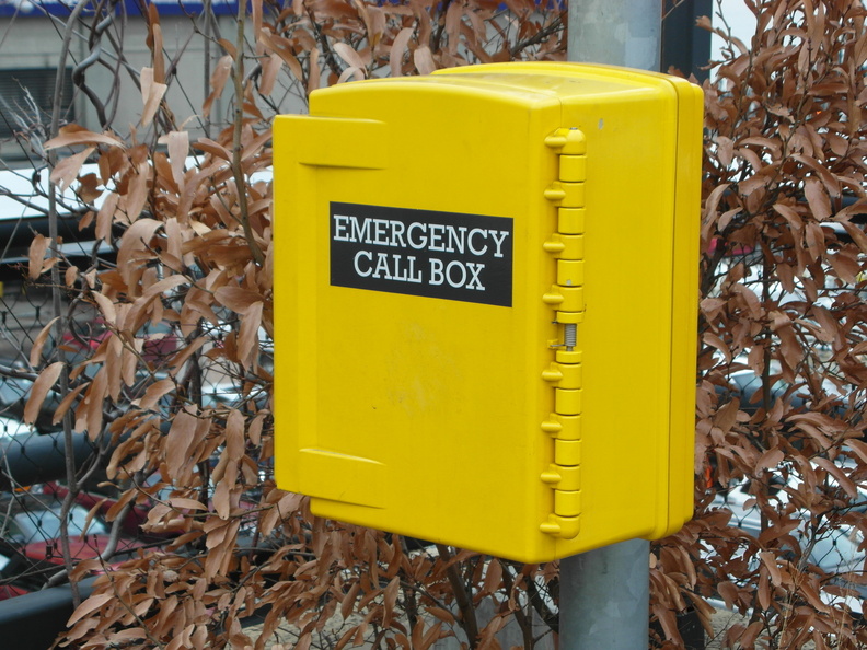
<svg viewBox="0 0 867 650">
<path fill-rule="evenodd" d="M 568 59 L 659 70 L 661 0 L 570 0 Z M 560 650 L 645 650 L 650 543 L 629 539 L 560 560 Z"/>
</svg>

